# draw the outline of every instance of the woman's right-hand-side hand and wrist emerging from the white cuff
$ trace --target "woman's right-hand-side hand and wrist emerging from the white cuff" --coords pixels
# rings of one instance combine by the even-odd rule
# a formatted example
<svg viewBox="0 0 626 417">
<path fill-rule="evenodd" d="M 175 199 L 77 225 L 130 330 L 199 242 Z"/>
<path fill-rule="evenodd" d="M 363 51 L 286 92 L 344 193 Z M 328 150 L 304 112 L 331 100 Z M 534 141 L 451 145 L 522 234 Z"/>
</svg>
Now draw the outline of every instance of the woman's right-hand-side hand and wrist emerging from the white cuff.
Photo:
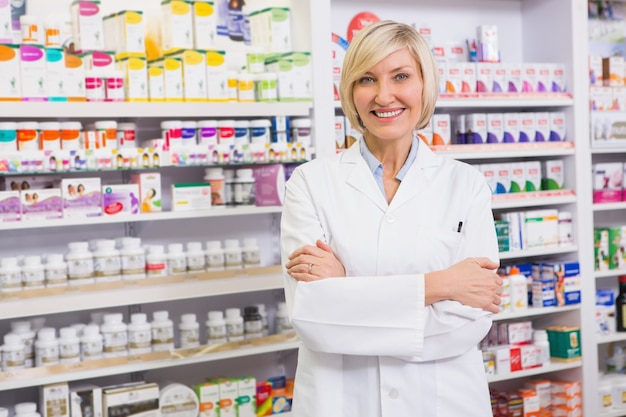
<svg viewBox="0 0 626 417">
<path fill-rule="evenodd" d="M 426 304 L 442 299 L 498 313 L 502 278 L 496 262 L 488 258 L 467 258 L 443 271 L 426 274 Z"/>
</svg>

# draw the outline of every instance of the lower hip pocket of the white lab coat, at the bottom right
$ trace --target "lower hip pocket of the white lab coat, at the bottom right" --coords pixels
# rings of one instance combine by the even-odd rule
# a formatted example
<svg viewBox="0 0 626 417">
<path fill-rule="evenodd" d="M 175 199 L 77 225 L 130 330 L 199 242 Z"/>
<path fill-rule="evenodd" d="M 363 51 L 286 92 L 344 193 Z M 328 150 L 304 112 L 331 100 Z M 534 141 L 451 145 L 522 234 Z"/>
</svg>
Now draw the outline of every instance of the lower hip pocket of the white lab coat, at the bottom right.
<svg viewBox="0 0 626 417">
<path fill-rule="evenodd" d="M 437 392 L 437 416 L 490 416 L 489 387 L 482 353 L 472 349 L 460 356 L 437 361 Z"/>
</svg>

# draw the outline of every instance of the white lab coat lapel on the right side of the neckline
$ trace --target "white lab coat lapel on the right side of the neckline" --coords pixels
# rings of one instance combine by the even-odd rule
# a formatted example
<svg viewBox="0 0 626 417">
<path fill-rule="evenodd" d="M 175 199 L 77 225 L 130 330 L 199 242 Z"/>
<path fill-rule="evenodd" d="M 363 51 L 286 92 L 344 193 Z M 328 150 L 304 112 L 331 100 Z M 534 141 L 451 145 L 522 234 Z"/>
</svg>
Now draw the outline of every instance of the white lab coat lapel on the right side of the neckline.
<svg viewBox="0 0 626 417">
<path fill-rule="evenodd" d="M 441 156 L 436 155 L 423 142 L 420 143 L 417 158 L 391 200 L 389 209 L 394 210 L 415 198 L 424 186 L 434 179 L 435 172 L 442 162 Z"/>
</svg>

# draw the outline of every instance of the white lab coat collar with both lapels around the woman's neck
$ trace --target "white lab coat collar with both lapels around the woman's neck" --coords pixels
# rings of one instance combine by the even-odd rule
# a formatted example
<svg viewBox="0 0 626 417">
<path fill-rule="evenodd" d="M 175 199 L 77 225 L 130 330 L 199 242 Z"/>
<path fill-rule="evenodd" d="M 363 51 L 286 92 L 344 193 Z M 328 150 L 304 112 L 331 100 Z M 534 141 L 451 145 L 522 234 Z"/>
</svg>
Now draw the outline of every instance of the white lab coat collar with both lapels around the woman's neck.
<svg viewBox="0 0 626 417">
<path fill-rule="evenodd" d="M 388 205 L 385 197 L 376 185 L 367 163 L 361 156 L 361 142 L 357 141 L 341 154 L 341 164 L 354 165 L 353 169 L 347 173 L 346 182 L 364 193 L 384 212 L 388 209 L 399 207 L 419 193 L 424 181 L 432 180 L 437 167 L 443 162 L 443 158 L 440 155 L 435 154 L 428 146 L 421 143 L 417 150 L 415 162 L 409 168 L 391 205 Z"/>
</svg>

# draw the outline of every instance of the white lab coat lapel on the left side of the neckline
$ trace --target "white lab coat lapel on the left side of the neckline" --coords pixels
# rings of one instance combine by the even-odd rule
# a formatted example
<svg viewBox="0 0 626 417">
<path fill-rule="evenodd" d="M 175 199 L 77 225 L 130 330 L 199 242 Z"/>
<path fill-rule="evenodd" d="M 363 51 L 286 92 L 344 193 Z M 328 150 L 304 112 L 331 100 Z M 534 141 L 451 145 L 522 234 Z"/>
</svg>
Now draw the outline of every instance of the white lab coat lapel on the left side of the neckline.
<svg viewBox="0 0 626 417">
<path fill-rule="evenodd" d="M 387 210 L 387 201 L 376 185 L 367 163 L 361 156 L 361 141 L 358 141 L 345 151 L 341 157 L 341 164 L 345 172 L 345 181 L 356 191 L 365 194 L 382 211 Z"/>
</svg>

